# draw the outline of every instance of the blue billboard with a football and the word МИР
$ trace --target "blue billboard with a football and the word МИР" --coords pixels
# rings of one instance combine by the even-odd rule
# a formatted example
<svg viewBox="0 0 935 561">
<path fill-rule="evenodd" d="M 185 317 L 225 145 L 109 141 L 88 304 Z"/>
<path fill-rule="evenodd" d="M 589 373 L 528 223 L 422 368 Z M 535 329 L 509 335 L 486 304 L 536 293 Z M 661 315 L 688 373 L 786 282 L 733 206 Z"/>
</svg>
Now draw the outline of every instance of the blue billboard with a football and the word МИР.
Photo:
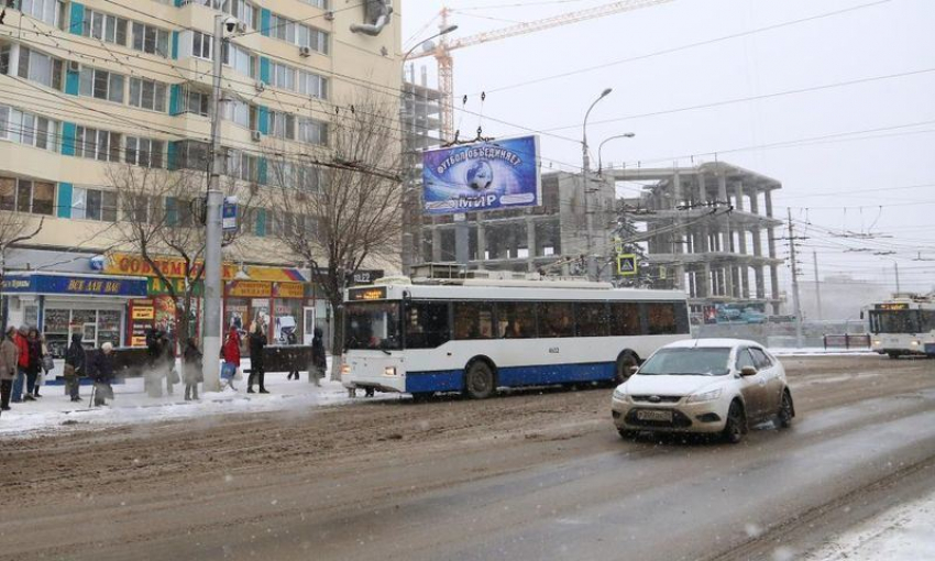
<svg viewBox="0 0 935 561">
<path fill-rule="evenodd" d="M 538 207 L 542 204 L 539 138 L 427 151 L 422 196 L 428 215 Z"/>
</svg>

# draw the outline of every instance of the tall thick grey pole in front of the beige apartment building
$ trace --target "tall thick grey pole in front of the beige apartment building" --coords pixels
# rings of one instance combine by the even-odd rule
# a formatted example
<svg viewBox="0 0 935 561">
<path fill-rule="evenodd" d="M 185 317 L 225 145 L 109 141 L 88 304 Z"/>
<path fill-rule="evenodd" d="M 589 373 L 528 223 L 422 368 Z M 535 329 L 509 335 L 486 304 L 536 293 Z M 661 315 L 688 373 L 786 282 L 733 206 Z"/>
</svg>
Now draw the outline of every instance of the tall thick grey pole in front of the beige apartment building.
<svg viewBox="0 0 935 561">
<path fill-rule="evenodd" d="M 221 153 L 221 72 L 223 70 L 224 21 L 228 15 L 215 15 L 215 36 L 211 42 L 212 72 L 215 84 L 211 91 L 211 175 L 208 180 L 207 220 L 205 222 L 205 314 L 202 317 L 204 343 L 201 363 L 205 392 L 221 389 L 221 170 L 224 156 Z"/>
</svg>

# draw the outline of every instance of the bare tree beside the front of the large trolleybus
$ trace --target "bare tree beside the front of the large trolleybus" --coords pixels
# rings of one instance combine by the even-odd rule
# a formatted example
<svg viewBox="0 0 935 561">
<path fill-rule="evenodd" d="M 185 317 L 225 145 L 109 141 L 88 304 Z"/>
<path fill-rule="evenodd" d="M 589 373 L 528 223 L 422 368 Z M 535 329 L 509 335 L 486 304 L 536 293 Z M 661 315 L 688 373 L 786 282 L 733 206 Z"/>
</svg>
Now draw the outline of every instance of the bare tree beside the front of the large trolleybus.
<svg viewBox="0 0 935 561">
<path fill-rule="evenodd" d="M 344 289 L 363 266 L 396 262 L 403 224 L 398 109 L 365 99 L 329 124 L 328 148 L 271 155 L 271 207 L 290 258 L 305 262 L 334 310 L 331 351 L 343 351 Z M 285 151 L 284 151 L 285 152 Z M 339 378 L 334 361 L 332 380 Z"/>
</svg>

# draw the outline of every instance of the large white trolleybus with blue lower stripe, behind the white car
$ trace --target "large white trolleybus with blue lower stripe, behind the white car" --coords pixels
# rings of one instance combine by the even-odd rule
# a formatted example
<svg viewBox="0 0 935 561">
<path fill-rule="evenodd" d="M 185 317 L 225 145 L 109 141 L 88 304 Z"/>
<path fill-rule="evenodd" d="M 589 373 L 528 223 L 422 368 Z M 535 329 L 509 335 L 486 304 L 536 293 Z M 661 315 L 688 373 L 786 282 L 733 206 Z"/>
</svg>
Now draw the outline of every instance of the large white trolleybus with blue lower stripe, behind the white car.
<svg viewBox="0 0 935 561">
<path fill-rule="evenodd" d="M 684 293 L 575 280 L 457 279 L 350 288 L 342 381 L 425 397 L 622 382 L 686 339 Z"/>
</svg>

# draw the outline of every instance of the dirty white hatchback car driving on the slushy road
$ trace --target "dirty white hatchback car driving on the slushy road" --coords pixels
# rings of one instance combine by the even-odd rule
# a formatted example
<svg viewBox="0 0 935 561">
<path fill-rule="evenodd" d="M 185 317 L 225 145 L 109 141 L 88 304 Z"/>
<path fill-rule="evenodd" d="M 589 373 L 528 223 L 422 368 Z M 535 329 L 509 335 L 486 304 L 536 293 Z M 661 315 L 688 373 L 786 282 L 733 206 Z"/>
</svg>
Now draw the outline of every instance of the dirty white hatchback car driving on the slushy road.
<svg viewBox="0 0 935 561">
<path fill-rule="evenodd" d="M 739 442 L 747 428 L 795 416 L 782 364 L 759 343 L 689 339 L 656 351 L 614 391 L 622 437 L 650 431 L 721 432 Z"/>
</svg>

